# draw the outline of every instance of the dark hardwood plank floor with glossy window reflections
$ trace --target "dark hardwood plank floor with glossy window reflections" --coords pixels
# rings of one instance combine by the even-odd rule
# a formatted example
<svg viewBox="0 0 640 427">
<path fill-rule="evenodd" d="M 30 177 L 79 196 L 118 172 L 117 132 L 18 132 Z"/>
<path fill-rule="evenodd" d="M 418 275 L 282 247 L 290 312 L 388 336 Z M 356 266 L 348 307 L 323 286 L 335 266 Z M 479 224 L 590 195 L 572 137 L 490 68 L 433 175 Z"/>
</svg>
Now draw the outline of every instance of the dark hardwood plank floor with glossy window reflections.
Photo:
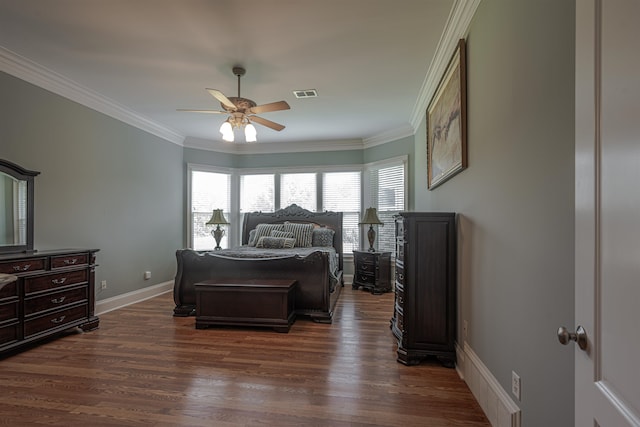
<svg viewBox="0 0 640 427">
<path fill-rule="evenodd" d="M 0 359 L 0 424 L 489 426 L 454 369 L 396 362 L 392 306 L 345 286 L 331 325 L 196 330 L 161 295 Z"/>
</svg>

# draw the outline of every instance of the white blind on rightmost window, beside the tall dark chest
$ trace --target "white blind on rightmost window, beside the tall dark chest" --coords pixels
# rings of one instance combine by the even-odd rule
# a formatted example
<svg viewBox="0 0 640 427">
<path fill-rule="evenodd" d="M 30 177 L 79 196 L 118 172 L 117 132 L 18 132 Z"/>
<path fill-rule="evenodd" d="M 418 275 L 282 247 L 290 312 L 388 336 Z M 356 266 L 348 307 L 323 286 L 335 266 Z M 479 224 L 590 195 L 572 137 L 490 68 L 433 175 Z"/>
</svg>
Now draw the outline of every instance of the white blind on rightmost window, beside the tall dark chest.
<svg viewBox="0 0 640 427">
<path fill-rule="evenodd" d="M 395 224 L 393 216 L 405 209 L 404 162 L 370 170 L 371 203 L 384 223 L 376 233 L 379 251 L 395 252 Z"/>
</svg>

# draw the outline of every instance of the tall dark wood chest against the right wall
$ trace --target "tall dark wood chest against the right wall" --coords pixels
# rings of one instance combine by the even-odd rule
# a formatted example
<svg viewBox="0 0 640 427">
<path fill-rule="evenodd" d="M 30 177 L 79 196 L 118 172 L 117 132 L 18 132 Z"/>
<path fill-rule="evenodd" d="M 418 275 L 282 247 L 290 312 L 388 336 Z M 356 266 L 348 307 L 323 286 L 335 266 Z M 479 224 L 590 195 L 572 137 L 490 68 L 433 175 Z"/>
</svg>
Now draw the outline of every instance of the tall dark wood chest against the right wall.
<svg viewBox="0 0 640 427">
<path fill-rule="evenodd" d="M 456 361 L 456 215 L 401 212 L 395 217 L 395 305 L 391 330 L 397 360 Z"/>
</svg>

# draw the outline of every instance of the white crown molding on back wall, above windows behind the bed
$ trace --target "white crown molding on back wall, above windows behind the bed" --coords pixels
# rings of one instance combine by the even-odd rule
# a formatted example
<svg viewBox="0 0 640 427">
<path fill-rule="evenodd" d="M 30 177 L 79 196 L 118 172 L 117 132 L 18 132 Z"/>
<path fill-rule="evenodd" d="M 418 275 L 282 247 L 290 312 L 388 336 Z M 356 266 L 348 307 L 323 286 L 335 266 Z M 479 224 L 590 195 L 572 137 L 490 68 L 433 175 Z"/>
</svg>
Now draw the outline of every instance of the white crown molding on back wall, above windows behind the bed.
<svg viewBox="0 0 640 427">
<path fill-rule="evenodd" d="M 187 137 L 184 147 L 199 150 L 215 151 L 227 154 L 277 154 L 277 153 L 312 153 L 319 151 L 362 150 L 362 140 L 351 139 L 341 141 L 303 141 L 291 142 L 220 142 L 209 139 Z"/>
</svg>

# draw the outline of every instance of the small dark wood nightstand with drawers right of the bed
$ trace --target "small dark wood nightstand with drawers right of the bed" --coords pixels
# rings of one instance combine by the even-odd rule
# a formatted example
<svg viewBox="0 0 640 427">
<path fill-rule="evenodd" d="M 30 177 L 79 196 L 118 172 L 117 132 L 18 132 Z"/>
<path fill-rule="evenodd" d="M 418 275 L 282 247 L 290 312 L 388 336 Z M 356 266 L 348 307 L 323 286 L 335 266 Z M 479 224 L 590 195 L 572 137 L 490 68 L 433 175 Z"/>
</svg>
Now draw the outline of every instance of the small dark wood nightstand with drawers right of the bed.
<svg viewBox="0 0 640 427">
<path fill-rule="evenodd" d="M 391 290 L 391 252 L 353 251 L 353 289 L 362 287 L 372 294 Z"/>
</svg>

